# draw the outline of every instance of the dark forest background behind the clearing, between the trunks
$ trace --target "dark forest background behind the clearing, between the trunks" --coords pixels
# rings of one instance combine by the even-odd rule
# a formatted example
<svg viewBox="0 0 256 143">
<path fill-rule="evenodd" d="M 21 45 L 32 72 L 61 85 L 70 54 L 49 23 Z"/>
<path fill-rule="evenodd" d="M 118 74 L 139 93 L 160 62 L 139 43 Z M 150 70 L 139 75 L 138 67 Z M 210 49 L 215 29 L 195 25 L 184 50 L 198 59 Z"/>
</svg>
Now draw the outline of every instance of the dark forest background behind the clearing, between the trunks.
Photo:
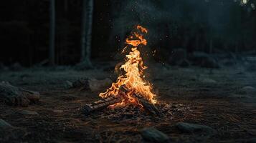
<svg viewBox="0 0 256 143">
<path fill-rule="evenodd" d="M 188 54 L 240 55 L 256 47 L 255 0 L 95 0 L 92 59 L 115 60 L 136 24 L 149 30 L 148 51 L 169 61 Z M 80 61 L 82 0 L 56 0 L 55 56 L 59 65 Z M 0 62 L 33 66 L 48 58 L 49 0 L 9 0 L 0 6 Z"/>
</svg>

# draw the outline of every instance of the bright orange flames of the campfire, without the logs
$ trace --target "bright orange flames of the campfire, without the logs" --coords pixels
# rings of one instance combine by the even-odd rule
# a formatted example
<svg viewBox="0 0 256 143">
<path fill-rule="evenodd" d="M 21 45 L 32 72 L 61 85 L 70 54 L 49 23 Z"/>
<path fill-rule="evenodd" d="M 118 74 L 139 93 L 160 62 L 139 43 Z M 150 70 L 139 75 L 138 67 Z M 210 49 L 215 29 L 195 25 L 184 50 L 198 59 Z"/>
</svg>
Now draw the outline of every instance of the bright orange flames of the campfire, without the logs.
<svg viewBox="0 0 256 143">
<path fill-rule="evenodd" d="M 106 92 L 100 93 L 100 97 L 106 98 L 109 96 L 118 96 L 119 87 L 125 85 L 131 91 L 128 92 L 125 96 L 126 100 L 122 102 L 110 105 L 110 108 L 124 106 L 125 104 L 136 104 L 143 107 L 138 101 L 131 96 L 133 93 L 140 93 L 145 99 L 149 102 L 156 103 L 156 94 L 153 94 L 151 84 L 144 79 L 143 71 L 147 69 L 147 66 L 144 66 L 143 60 L 141 58 L 141 53 L 138 50 L 139 45 L 146 46 L 147 41 L 144 39 L 143 34 L 147 34 L 148 30 L 143 26 L 136 26 L 136 31 L 132 33 L 131 36 L 125 40 L 125 46 L 122 52 L 128 49 L 128 46 L 131 47 L 131 51 L 126 55 L 125 63 L 120 66 L 120 70 L 125 71 L 124 75 L 120 75 L 116 82 L 107 89 Z"/>
</svg>

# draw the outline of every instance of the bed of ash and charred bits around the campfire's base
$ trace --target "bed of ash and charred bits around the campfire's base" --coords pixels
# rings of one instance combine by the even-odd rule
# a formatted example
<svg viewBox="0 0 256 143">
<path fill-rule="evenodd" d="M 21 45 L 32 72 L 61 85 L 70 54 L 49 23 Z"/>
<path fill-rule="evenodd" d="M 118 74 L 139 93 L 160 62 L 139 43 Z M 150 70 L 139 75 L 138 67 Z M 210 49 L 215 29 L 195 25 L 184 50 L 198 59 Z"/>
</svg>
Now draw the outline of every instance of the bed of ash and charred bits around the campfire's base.
<svg viewBox="0 0 256 143">
<path fill-rule="evenodd" d="M 123 122 L 124 120 L 140 121 L 141 122 L 158 122 L 170 120 L 178 117 L 184 117 L 186 114 L 191 114 L 190 107 L 184 104 L 159 103 L 156 104 L 159 116 L 149 114 L 145 109 L 134 106 L 132 104 L 126 107 L 115 107 L 114 109 L 105 109 L 100 113 L 101 118 L 110 119 L 115 122 Z"/>
</svg>

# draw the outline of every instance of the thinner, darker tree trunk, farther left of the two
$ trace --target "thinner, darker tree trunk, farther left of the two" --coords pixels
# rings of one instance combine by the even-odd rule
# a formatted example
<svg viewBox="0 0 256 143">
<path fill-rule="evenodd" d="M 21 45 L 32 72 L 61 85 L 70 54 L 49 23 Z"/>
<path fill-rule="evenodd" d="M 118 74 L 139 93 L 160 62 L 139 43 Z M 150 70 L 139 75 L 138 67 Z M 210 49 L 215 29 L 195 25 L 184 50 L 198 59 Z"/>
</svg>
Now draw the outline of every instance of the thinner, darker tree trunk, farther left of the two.
<svg viewBox="0 0 256 143">
<path fill-rule="evenodd" d="M 53 66 L 55 64 L 55 0 L 50 0 L 49 2 L 49 64 Z"/>
</svg>

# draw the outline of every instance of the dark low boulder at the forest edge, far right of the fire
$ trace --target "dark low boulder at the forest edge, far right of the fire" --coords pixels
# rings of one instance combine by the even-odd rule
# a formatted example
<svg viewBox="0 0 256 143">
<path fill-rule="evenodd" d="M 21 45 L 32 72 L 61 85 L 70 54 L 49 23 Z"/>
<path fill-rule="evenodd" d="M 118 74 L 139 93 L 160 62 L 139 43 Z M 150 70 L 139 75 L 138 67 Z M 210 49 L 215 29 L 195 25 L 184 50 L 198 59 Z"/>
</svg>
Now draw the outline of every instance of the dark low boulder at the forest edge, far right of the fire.
<svg viewBox="0 0 256 143">
<path fill-rule="evenodd" d="M 194 51 L 190 58 L 195 66 L 202 66 L 207 68 L 219 68 L 217 61 L 207 53 L 202 51 Z"/>
</svg>

